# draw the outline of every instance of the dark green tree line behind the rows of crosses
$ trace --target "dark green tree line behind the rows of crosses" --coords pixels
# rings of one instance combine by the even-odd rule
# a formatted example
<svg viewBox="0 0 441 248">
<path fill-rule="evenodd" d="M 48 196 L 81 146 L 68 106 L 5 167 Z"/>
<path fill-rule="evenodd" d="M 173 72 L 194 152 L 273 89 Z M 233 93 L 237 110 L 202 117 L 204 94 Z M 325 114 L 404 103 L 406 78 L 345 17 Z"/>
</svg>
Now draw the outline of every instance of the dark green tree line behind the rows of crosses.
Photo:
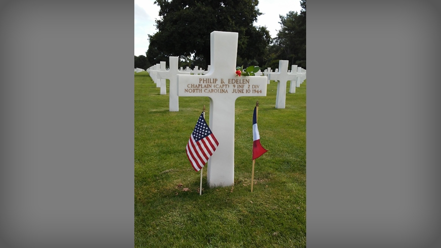
<svg viewBox="0 0 441 248">
<path fill-rule="evenodd" d="M 271 38 L 266 27 L 253 23 L 262 13 L 258 0 L 156 0 L 160 7 L 157 32 L 149 35 L 146 56 L 135 56 L 135 68 L 147 70 L 169 56 L 179 57 L 179 67 L 210 63 L 210 33 L 238 33 L 237 66 L 278 68 L 278 60 L 306 69 L 306 0 L 300 13 L 279 15 L 280 30 Z M 290 67 L 289 67 L 290 68 Z"/>
</svg>

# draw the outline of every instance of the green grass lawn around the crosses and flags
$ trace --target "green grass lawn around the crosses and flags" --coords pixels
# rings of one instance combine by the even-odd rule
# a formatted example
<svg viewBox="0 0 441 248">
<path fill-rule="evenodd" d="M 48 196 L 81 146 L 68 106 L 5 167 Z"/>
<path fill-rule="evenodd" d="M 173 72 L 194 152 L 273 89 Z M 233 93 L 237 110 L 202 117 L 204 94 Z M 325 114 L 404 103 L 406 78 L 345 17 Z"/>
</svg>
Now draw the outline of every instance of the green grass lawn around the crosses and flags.
<svg viewBox="0 0 441 248">
<path fill-rule="evenodd" d="M 169 112 L 148 72 L 135 73 L 135 247 L 306 247 L 306 81 L 275 109 L 277 83 L 266 97 L 236 100 L 234 186 L 207 187 L 185 147 L 208 97 L 179 97 Z M 287 84 L 287 92 L 289 83 Z M 252 117 L 269 150 L 256 159 L 253 192 Z M 216 135 L 216 134 L 215 134 Z"/>
</svg>

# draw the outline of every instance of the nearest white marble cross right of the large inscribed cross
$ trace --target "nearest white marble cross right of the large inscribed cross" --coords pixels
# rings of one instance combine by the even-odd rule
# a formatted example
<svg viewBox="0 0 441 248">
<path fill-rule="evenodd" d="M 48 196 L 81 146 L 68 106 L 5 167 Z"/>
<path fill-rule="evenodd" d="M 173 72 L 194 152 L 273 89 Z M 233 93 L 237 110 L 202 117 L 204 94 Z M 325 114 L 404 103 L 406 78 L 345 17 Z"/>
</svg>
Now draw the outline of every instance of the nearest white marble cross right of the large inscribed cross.
<svg viewBox="0 0 441 248">
<path fill-rule="evenodd" d="M 296 75 L 288 74 L 288 60 L 278 61 L 278 72 L 270 73 L 270 80 L 277 80 L 276 109 L 285 109 L 286 82 L 295 80 Z"/>
</svg>

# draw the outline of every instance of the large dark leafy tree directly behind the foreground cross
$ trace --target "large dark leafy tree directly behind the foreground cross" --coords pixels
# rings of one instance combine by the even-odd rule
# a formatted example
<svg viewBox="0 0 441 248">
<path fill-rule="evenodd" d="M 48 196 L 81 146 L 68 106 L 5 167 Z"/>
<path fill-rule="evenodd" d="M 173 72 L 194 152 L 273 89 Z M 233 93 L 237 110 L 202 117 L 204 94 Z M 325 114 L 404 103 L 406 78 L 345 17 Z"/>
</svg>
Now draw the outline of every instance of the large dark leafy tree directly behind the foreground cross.
<svg viewBox="0 0 441 248">
<path fill-rule="evenodd" d="M 210 33 L 238 33 L 237 53 L 240 60 L 262 57 L 271 36 L 266 27 L 253 23 L 262 13 L 258 0 L 156 0 L 160 8 L 156 20 L 158 32 L 149 35 L 147 57 L 154 64 L 161 56 L 194 56 L 197 66 L 210 63 Z"/>
</svg>

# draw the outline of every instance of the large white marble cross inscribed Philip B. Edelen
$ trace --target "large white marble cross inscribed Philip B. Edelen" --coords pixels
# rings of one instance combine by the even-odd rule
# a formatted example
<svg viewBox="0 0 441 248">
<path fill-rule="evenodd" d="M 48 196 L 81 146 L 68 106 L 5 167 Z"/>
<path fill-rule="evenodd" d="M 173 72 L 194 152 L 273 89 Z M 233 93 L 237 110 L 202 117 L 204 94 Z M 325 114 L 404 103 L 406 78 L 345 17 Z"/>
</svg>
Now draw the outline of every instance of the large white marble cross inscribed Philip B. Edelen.
<svg viewBox="0 0 441 248">
<path fill-rule="evenodd" d="M 237 38 L 238 33 L 213 31 L 210 34 L 211 66 L 208 74 L 177 75 L 179 96 L 210 98 L 209 127 L 219 146 L 208 160 L 209 187 L 234 184 L 234 114 L 237 97 L 267 94 L 266 77 L 236 76 Z M 250 106 L 250 111 L 253 108 L 254 105 Z"/>
</svg>

